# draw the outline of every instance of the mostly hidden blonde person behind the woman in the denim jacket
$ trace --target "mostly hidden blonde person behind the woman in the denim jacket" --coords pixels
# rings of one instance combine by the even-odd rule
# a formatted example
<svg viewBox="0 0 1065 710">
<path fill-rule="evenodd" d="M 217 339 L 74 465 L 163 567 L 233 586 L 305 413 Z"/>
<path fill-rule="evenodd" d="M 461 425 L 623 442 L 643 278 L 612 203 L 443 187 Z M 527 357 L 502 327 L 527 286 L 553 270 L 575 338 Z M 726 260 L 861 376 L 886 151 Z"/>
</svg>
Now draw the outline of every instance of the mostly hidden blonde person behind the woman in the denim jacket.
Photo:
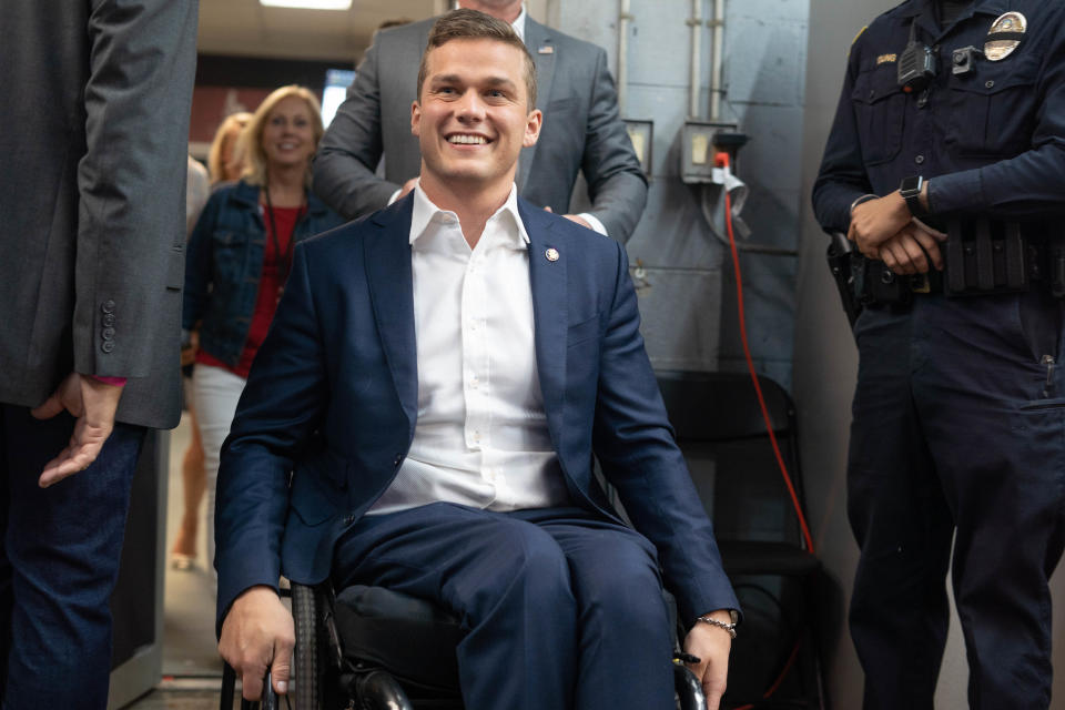
<svg viewBox="0 0 1065 710">
<path fill-rule="evenodd" d="M 211 150 L 207 152 L 207 170 L 205 174 L 211 186 L 240 179 L 241 172 L 244 170 L 244 162 L 241 160 L 240 152 L 236 150 L 236 144 L 240 140 L 241 132 L 251 120 L 252 114 L 247 111 L 231 113 L 225 116 L 219 125 L 219 129 L 214 132 L 214 140 L 211 141 Z M 189 160 L 195 162 L 192 158 Z M 196 163 L 196 165 L 199 165 L 199 163 Z M 203 169 L 201 168 L 200 170 Z M 192 194 L 191 190 L 189 194 Z M 207 194 L 203 195 L 203 201 L 199 203 L 190 216 L 192 220 L 189 225 L 190 234 L 192 234 L 192 229 L 199 221 L 200 213 L 206 204 L 207 196 Z M 186 213 L 187 212 L 190 211 L 186 210 Z M 182 500 L 183 510 L 181 521 L 178 526 L 178 534 L 174 537 L 174 545 L 170 550 L 171 565 L 180 571 L 191 570 L 196 559 L 200 501 L 203 500 L 203 491 L 206 486 L 203 439 L 200 437 L 200 426 L 196 423 L 195 407 L 192 400 L 192 387 L 190 386 L 193 363 L 195 361 L 195 341 L 196 337 L 195 334 L 193 334 L 189 347 L 183 348 L 181 352 L 181 365 L 184 371 L 182 382 L 185 389 L 185 406 L 189 409 L 192 438 L 189 442 L 189 448 L 185 449 L 185 455 L 181 462 L 181 483 L 184 494 Z"/>
</svg>

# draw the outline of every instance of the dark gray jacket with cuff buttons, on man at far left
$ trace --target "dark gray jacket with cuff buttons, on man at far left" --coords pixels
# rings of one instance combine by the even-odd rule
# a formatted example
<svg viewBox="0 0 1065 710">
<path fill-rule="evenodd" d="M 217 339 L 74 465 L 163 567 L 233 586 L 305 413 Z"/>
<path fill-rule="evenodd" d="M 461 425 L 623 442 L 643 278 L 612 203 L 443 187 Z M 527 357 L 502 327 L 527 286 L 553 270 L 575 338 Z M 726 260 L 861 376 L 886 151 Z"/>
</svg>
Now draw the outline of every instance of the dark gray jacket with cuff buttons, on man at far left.
<svg viewBox="0 0 1065 710">
<path fill-rule="evenodd" d="M 0 402 L 130 378 L 174 426 L 196 0 L 16 0 L 0 16 Z"/>
</svg>

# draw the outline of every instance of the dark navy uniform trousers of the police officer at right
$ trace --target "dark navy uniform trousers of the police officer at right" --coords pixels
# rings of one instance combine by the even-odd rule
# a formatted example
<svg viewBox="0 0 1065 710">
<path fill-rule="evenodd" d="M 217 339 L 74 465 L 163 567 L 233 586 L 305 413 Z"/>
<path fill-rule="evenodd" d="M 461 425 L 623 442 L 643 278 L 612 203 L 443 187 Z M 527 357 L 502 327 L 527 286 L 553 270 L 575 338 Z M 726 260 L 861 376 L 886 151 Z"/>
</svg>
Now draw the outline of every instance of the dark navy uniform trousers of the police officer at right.
<svg viewBox="0 0 1065 710">
<path fill-rule="evenodd" d="M 1063 323 L 1061 302 L 1028 293 L 917 296 L 855 324 L 850 622 L 866 710 L 932 709 L 952 561 L 971 707 L 1048 707 L 1048 579 L 1065 544 Z"/>
</svg>

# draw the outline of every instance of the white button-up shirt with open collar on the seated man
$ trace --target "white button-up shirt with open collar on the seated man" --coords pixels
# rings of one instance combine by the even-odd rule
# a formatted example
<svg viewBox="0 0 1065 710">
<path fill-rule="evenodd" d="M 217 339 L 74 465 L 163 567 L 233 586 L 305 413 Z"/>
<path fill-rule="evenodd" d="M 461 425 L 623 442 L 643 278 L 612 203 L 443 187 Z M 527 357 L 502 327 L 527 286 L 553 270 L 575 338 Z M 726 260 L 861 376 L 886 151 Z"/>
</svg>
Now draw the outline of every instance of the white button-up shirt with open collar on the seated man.
<svg viewBox="0 0 1065 710">
<path fill-rule="evenodd" d="M 473 250 L 458 215 L 415 187 L 418 419 L 369 514 L 440 500 L 489 510 L 568 503 L 537 374 L 528 242 L 516 187 Z"/>
</svg>

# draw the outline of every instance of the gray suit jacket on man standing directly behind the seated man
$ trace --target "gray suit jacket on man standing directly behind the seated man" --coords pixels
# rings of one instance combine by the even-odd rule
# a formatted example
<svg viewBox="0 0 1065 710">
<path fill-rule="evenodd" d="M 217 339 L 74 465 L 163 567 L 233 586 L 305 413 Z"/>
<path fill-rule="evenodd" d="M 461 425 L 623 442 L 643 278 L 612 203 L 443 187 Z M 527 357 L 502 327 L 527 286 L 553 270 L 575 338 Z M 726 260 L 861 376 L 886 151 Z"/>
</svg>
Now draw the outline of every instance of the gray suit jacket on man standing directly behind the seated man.
<svg viewBox="0 0 1065 710">
<path fill-rule="evenodd" d="M 314 190 L 347 219 L 385 206 L 420 172 L 418 140 L 410 135 L 418 62 L 435 18 L 377 36 L 325 132 L 314 161 Z M 521 151 L 517 184 L 523 197 L 569 212 L 577 172 L 584 171 L 591 214 L 611 237 L 632 235 L 647 202 L 647 180 L 618 115 L 606 52 L 526 20 L 525 43 L 536 62 L 536 105 L 544 130 Z M 382 153 L 385 180 L 374 174 Z"/>
</svg>

